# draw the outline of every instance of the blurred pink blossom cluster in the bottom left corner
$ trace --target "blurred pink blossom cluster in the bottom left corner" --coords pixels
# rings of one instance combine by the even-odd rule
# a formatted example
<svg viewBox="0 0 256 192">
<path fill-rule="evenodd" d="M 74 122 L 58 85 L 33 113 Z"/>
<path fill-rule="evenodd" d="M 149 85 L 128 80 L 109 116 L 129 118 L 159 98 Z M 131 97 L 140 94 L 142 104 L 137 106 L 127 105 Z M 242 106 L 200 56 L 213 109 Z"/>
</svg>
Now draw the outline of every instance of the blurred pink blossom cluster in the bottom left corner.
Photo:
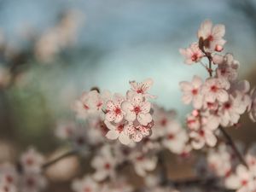
<svg viewBox="0 0 256 192">
<path fill-rule="evenodd" d="M 0 166 L 0 191 L 3 192 L 39 192 L 45 189 L 47 182 L 42 175 L 44 157 L 34 148 L 22 154 L 18 169 L 9 163 Z"/>
</svg>

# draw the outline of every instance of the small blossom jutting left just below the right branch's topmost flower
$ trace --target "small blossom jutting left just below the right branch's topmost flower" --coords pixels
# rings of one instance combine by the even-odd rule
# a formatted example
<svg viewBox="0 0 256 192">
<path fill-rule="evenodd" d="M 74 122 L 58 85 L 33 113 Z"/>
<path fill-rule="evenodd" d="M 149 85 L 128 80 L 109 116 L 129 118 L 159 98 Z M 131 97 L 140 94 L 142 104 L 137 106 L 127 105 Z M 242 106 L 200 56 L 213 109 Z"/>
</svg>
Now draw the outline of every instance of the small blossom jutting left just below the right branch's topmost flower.
<svg viewBox="0 0 256 192">
<path fill-rule="evenodd" d="M 194 62 L 201 61 L 201 58 L 204 56 L 197 43 L 190 44 L 187 49 L 179 49 L 179 52 L 185 57 L 184 62 L 189 65 Z"/>
</svg>

